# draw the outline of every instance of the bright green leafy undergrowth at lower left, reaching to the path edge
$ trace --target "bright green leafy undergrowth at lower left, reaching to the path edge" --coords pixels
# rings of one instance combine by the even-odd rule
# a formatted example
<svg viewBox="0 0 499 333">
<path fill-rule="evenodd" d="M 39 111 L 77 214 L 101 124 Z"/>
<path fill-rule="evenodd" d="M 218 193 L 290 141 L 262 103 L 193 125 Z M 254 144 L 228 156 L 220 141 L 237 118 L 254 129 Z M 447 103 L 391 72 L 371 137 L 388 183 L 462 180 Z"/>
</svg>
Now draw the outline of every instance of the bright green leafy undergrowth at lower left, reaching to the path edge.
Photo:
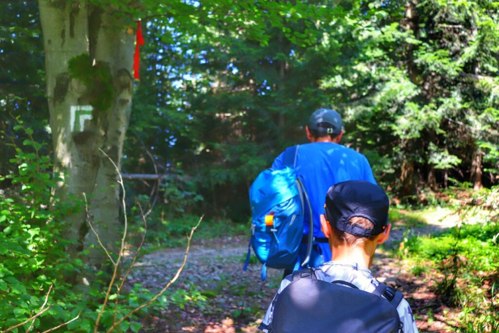
<svg viewBox="0 0 499 333">
<path fill-rule="evenodd" d="M 20 120 L 14 130 L 23 131 L 29 139 L 24 140 L 22 148 L 13 147 L 16 155 L 11 163 L 17 166 L 17 172 L 0 177 L 0 181 L 11 183 L 10 188 L 1 192 L 0 200 L 0 327 L 9 328 L 37 314 L 47 298 L 46 306 L 50 309 L 34 320 L 33 330 L 45 331 L 77 318 L 68 324 L 67 331 L 90 332 L 110 276 L 107 269 L 94 271 L 87 267 L 82 261 L 85 253 L 70 258 L 66 251 L 67 246 L 74 244 L 65 239 L 64 219 L 82 209 L 83 203 L 74 198 L 62 202 L 53 196 L 51 188 L 63 180 L 50 175 L 50 158 L 40 153 L 45 144 L 35 141 L 33 131 Z M 80 284 L 78 280 L 86 276 L 94 278 L 89 285 Z M 115 310 L 114 301 L 118 298 L 115 285 L 99 328 L 110 328 L 115 316 L 120 319 L 155 295 L 136 284 L 121 291 Z M 167 292 L 152 307 L 124 321 L 115 332 L 138 332 L 141 328 L 138 318 L 151 310 L 164 310 L 170 304 L 184 307 L 194 303 L 202 307 L 205 301 L 195 286 Z M 30 325 L 28 322 L 13 332 L 26 332 Z"/>
</svg>

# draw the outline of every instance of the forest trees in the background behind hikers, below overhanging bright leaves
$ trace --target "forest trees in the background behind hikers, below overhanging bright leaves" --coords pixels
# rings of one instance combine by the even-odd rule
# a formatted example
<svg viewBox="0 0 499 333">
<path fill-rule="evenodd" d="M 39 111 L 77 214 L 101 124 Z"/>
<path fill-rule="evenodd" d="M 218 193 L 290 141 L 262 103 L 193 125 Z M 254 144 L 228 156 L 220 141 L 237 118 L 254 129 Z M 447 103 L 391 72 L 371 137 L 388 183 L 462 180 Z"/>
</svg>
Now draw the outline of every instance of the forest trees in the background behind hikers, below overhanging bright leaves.
<svg viewBox="0 0 499 333">
<path fill-rule="evenodd" d="M 50 142 L 37 10 L 35 1 L 1 2 L 3 140 L 20 116 Z M 335 1 L 330 10 L 344 16 L 269 22 L 261 42 L 223 20 L 211 40 L 178 31 L 175 17 L 170 26 L 144 21 L 123 172 L 167 175 L 168 214 L 247 221 L 251 181 L 286 146 L 306 141 L 313 110 L 331 107 L 344 119 L 343 144 L 367 156 L 397 200 L 497 184 L 497 4 Z M 5 174 L 14 152 L 0 149 Z M 127 184 L 136 194 L 153 186 Z"/>
</svg>

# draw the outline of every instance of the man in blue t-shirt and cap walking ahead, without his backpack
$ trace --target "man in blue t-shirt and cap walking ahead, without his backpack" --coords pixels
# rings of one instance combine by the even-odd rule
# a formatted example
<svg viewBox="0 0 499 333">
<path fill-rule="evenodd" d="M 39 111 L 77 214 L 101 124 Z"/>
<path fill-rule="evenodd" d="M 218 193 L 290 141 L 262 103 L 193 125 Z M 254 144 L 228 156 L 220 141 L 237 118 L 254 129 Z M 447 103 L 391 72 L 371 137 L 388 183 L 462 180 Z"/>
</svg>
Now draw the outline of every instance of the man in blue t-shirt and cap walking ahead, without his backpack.
<svg viewBox="0 0 499 333">
<path fill-rule="evenodd" d="M 376 184 L 369 162 L 361 153 L 340 145 L 343 135 L 341 116 L 332 109 L 319 109 L 312 113 L 305 127 L 310 143 L 299 146 L 295 160 L 296 175 L 308 192 L 313 215 L 314 243 L 309 267 L 318 267 L 331 260 L 331 250 L 320 229 L 320 214 L 324 209 L 324 194 L 329 186 L 346 180 L 365 180 Z M 274 160 L 272 169 L 283 165 L 284 153 Z M 309 216 L 305 210 L 303 241 L 293 270 L 297 270 L 306 257 Z M 291 269 L 285 270 L 287 275 Z"/>
</svg>

